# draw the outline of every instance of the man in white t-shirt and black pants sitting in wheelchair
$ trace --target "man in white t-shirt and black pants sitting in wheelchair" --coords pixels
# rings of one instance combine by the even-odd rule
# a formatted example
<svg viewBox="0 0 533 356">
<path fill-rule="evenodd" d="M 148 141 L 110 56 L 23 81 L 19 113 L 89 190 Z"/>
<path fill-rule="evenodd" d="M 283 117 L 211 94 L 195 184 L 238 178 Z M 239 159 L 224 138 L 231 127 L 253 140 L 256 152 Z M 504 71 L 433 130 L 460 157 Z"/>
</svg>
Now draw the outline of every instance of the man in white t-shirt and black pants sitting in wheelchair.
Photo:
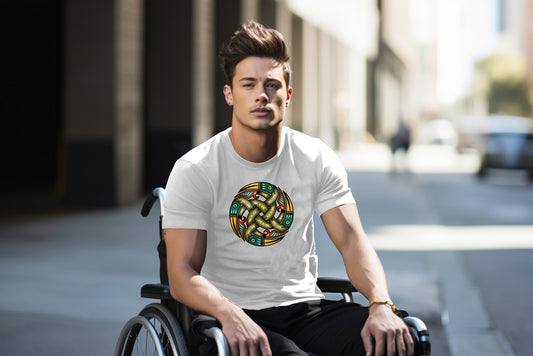
<svg viewBox="0 0 533 356">
<path fill-rule="evenodd" d="M 282 35 L 251 21 L 220 55 L 231 128 L 181 157 L 166 188 L 172 296 L 218 319 L 232 355 L 412 354 L 346 171 L 282 125 L 293 92 Z M 369 308 L 323 300 L 315 210 Z"/>
</svg>

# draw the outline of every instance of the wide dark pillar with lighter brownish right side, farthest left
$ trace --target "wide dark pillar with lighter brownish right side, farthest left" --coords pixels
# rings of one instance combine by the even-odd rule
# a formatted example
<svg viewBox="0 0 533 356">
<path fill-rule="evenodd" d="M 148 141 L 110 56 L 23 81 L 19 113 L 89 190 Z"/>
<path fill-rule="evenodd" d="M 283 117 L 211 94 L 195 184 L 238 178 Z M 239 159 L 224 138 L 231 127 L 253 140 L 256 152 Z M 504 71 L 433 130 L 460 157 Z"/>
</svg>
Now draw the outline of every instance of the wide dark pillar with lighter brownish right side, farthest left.
<svg viewBox="0 0 533 356">
<path fill-rule="evenodd" d="M 110 206 L 140 196 L 141 0 L 65 3 L 65 198 Z"/>
</svg>

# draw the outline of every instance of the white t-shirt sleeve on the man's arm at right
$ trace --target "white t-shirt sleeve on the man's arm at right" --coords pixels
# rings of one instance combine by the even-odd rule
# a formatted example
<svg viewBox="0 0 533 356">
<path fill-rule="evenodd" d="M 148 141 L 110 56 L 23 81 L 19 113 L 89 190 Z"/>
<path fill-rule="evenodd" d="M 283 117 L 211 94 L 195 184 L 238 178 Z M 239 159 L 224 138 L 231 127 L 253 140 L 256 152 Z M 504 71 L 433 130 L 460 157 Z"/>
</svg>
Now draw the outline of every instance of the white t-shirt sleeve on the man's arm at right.
<svg viewBox="0 0 533 356">
<path fill-rule="evenodd" d="M 337 154 L 324 144 L 316 210 L 322 215 L 337 206 L 355 203 L 348 174 Z"/>
</svg>

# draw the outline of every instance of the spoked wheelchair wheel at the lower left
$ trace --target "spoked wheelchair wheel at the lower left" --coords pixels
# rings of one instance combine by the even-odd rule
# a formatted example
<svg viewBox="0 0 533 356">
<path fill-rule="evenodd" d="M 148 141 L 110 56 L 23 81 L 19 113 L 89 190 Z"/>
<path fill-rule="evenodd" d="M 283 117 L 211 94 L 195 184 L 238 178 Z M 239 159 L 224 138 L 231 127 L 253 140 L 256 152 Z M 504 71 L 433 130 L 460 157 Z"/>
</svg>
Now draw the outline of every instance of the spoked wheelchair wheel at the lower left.
<svg viewBox="0 0 533 356">
<path fill-rule="evenodd" d="M 161 304 L 146 306 L 124 326 L 115 355 L 188 356 L 185 336 L 174 315 Z"/>
</svg>

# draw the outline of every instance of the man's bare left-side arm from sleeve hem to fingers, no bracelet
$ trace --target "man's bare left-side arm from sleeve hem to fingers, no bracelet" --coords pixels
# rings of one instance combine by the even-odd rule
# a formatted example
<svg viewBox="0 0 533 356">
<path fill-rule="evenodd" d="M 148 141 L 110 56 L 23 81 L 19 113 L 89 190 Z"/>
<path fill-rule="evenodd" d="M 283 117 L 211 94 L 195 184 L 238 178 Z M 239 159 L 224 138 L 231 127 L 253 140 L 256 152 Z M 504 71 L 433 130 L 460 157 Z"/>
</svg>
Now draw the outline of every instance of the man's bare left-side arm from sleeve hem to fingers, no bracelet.
<svg viewBox="0 0 533 356">
<path fill-rule="evenodd" d="M 172 297 L 220 321 L 232 355 L 272 355 L 263 330 L 200 275 L 206 256 L 207 232 L 164 229 L 163 236 Z"/>
</svg>

